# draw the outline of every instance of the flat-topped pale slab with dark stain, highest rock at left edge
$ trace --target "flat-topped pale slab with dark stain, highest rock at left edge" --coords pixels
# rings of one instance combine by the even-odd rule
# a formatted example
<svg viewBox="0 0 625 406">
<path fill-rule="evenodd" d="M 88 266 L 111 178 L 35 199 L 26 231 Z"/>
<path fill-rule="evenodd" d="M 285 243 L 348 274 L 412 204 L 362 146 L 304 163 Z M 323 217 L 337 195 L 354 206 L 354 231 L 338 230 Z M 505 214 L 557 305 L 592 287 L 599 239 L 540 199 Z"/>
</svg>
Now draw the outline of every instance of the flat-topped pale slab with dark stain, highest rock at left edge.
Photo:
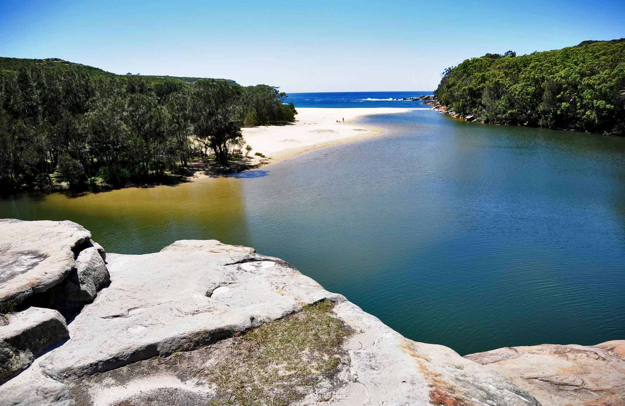
<svg viewBox="0 0 625 406">
<path fill-rule="evenodd" d="M 0 220 L 0 309 L 19 305 L 68 277 L 74 250 L 91 232 L 71 221 Z"/>
</svg>

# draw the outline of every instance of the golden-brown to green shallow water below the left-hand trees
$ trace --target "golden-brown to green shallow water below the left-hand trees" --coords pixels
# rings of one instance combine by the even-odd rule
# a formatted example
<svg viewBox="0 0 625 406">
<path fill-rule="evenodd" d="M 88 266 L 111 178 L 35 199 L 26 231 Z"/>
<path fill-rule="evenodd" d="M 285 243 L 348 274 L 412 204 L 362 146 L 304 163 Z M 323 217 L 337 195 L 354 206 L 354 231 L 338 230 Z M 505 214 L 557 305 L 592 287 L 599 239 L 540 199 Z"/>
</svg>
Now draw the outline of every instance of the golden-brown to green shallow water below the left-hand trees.
<svg viewBox="0 0 625 406">
<path fill-rule="evenodd" d="M 247 239 L 245 205 L 237 179 L 201 179 L 91 193 L 19 196 L 2 202 L 0 215 L 24 220 L 73 220 L 108 252 L 156 252 L 180 239 Z"/>
</svg>

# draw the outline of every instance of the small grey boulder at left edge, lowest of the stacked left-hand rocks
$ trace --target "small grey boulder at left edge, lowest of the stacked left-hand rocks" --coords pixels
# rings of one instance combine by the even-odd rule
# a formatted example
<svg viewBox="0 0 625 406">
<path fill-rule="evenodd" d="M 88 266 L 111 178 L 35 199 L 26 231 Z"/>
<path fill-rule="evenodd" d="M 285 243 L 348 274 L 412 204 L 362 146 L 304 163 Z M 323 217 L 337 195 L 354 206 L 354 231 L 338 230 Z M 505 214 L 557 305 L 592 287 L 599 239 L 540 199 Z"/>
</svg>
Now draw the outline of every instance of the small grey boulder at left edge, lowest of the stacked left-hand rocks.
<svg viewBox="0 0 625 406">
<path fill-rule="evenodd" d="M 0 384 L 68 337 L 65 319 L 56 310 L 29 307 L 0 317 Z"/>
</svg>

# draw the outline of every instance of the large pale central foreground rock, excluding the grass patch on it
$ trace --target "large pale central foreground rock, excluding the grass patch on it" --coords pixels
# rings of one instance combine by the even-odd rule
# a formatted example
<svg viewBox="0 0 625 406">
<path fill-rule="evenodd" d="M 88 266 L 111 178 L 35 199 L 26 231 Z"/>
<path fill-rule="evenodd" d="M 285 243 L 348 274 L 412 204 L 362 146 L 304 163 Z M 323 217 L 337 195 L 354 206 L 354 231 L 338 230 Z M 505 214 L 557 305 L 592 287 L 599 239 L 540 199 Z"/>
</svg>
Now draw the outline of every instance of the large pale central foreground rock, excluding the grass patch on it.
<svg viewBox="0 0 625 406">
<path fill-rule="evenodd" d="M 215 392 L 202 371 L 217 343 L 321 300 L 336 303 L 335 316 L 353 334 L 331 382 L 291 403 L 539 405 L 501 375 L 447 347 L 405 339 L 251 248 L 184 240 L 154 254 L 109 254 L 108 268 L 111 285 L 69 324 L 71 339 L 0 386 L 0 405 L 210 403 Z M 201 357 L 191 357 L 195 351 Z M 188 373 L 158 361 L 184 359 L 181 352 L 193 360 Z M 37 398 L 27 397 L 31 385 Z"/>
</svg>

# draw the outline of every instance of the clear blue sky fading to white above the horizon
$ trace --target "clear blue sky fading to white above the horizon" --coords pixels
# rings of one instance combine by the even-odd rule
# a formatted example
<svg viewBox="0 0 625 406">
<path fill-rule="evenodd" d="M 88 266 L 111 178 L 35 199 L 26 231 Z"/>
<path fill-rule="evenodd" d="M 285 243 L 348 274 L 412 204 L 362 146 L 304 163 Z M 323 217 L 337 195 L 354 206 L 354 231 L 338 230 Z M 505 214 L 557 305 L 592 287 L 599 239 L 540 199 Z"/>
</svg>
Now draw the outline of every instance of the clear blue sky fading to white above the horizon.
<svg viewBox="0 0 625 406">
<path fill-rule="evenodd" d="M 0 0 L 0 56 L 286 92 L 429 91 L 486 52 L 620 37 L 625 1 Z"/>
</svg>

